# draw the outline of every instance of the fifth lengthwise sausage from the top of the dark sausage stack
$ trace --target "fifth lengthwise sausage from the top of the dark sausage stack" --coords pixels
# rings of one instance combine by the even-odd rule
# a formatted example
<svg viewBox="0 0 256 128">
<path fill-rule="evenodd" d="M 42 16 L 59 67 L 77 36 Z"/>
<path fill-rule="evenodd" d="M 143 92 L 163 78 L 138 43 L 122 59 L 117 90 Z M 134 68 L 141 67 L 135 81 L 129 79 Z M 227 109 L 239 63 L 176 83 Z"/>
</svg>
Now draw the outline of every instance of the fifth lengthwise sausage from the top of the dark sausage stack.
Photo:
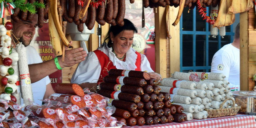
<svg viewBox="0 0 256 128">
<path fill-rule="evenodd" d="M 121 108 L 127 111 L 135 111 L 135 109 L 137 108 L 137 105 L 135 103 L 131 103 L 131 102 L 127 102 L 127 101 L 122 101 L 122 100 L 110 100 L 111 104 L 109 106 L 115 106 L 116 108 Z"/>
</svg>

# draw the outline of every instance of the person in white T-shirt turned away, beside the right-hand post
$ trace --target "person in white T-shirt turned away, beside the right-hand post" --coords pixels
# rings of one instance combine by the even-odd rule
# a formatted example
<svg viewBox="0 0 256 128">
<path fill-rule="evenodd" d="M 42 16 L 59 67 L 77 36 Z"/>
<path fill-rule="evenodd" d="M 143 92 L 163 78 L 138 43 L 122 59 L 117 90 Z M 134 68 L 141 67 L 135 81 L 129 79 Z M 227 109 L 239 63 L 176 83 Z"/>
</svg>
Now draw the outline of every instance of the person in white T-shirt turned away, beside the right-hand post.
<svg viewBox="0 0 256 128">
<path fill-rule="evenodd" d="M 211 72 L 223 73 L 231 91 L 240 90 L 240 23 L 236 26 L 233 43 L 224 45 L 214 54 Z"/>
</svg>

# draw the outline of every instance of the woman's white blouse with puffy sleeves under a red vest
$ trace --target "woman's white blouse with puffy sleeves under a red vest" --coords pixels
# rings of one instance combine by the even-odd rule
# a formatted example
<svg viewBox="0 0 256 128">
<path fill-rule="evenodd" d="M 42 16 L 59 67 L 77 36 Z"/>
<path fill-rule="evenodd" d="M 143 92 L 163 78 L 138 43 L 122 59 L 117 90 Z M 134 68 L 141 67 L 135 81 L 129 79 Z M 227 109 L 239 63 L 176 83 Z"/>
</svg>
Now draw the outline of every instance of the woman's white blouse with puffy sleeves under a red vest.
<svg viewBox="0 0 256 128">
<path fill-rule="evenodd" d="M 137 68 L 137 66 L 135 65 L 137 54 L 135 53 L 135 50 L 133 48 L 130 48 L 126 53 L 125 62 L 116 58 L 115 53 L 112 52 L 112 48 L 109 48 L 106 44 L 104 44 L 102 47 L 99 47 L 98 50 L 105 53 L 117 69 L 135 70 Z M 143 54 L 141 54 L 140 69 L 141 71 L 154 72 L 150 67 L 148 59 Z M 80 62 L 77 66 L 71 78 L 71 83 L 96 83 L 100 77 L 100 72 L 101 65 L 98 57 L 94 52 L 89 52 L 85 61 Z"/>
</svg>

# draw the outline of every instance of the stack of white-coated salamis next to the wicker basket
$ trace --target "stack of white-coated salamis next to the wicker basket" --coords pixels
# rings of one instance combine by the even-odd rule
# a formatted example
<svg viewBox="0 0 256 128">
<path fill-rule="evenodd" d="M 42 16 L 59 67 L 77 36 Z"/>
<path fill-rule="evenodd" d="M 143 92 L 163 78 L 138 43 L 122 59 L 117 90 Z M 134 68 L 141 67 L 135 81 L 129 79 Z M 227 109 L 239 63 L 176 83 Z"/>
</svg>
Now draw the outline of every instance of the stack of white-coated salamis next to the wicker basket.
<svg viewBox="0 0 256 128">
<path fill-rule="evenodd" d="M 163 92 L 170 92 L 171 101 L 175 102 L 173 104 L 183 106 L 187 115 L 203 119 L 208 117 L 204 109 L 219 109 L 226 98 L 232 98 L 229 82 L 224 78 L 222 73 L 176 71 L 173 78 L 164 78 L 161 81 L 160 88 Z M 230 108 L 233 102 L 228 100 L 223 104 L 223 108 Z"/>
</svg>

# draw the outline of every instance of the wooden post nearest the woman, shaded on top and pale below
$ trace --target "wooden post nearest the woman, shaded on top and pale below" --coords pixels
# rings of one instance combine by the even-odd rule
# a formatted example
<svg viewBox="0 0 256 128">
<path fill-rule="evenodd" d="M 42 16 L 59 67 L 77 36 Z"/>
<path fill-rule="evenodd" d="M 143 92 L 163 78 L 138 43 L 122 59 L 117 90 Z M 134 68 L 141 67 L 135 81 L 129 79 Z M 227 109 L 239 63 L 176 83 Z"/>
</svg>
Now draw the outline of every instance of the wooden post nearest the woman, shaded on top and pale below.
<svg viewBox="0 0 256 128">
<path fill-rule="evenodd" d="M 158 7 L 155 13 L 155 60 L 156 72 L 166 78 L 166 19 L 165 8 Z"/>
</svg>

